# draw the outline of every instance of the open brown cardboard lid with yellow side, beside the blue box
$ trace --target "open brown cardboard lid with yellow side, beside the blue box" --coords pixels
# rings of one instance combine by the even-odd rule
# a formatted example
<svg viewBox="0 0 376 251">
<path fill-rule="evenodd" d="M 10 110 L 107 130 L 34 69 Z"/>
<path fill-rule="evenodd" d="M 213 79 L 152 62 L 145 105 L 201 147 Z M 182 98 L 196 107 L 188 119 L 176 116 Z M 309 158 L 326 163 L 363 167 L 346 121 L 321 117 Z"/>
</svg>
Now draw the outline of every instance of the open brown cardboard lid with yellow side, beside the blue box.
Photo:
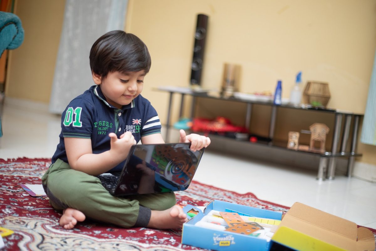
<svg viewBox="0 0 376 251">
<path fill-rule="evenodd" d="M 272 241 L 296 250 L 375 250 L 367 228 L 299 202 L 284 215 Z"/>
</svg>

